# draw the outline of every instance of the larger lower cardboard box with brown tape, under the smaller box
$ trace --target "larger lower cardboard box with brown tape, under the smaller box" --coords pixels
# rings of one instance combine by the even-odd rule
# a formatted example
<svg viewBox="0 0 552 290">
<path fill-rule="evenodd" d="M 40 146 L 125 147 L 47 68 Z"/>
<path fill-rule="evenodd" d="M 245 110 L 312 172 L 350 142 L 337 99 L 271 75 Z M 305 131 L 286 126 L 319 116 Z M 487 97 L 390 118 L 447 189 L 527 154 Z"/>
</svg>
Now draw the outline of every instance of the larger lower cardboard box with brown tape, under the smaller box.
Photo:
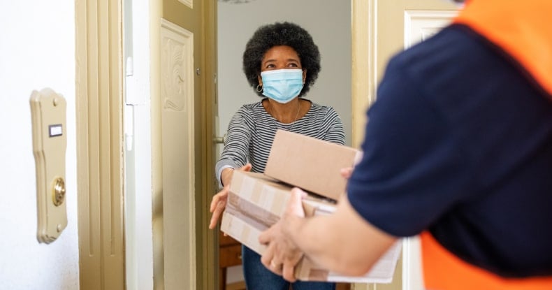
<svg viewBox="0 0 552 290">
<path fill-rule="evenodd" d="M 259 235 L 282 217 L 291 189 L 291 185 L 261 173 L 234 171 L 226 210 L 222 216 L 221 231 L 262 255 L 266 246 L 259 243 Z M 331 215 L 335 210 L 335 203 L 310 195 L 303 200 L 303 209 L 307 217 Z M 331 233 L 328 232 L 328 235 Z M 393 277 L 398 254 L 400 242 L 380 259 L 370 273 L 361 277 L 337 275 L 317 266 L 306 257 L 296 266 L 295 274 L 299 280 L 305 281 L 388 283 Z"/>
</svg>

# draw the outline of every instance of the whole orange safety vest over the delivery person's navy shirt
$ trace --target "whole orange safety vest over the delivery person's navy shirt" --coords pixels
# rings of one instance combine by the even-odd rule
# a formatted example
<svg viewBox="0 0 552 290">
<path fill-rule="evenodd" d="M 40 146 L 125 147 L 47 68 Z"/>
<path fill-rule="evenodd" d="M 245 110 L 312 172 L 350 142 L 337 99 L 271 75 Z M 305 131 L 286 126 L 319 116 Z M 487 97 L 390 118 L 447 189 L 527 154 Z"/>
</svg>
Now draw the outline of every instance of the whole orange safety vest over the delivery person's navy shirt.
<svg viewBox="0 0 552 290">
<path fill-rule="evenodd" d="M 471 0 L 454 20 L 511 56 L 552 100 L 552 0 Z M 426 289 L 552 290 L 552 277 L 504 278 L 458 258 L 421 233 Z"/>
</svg>

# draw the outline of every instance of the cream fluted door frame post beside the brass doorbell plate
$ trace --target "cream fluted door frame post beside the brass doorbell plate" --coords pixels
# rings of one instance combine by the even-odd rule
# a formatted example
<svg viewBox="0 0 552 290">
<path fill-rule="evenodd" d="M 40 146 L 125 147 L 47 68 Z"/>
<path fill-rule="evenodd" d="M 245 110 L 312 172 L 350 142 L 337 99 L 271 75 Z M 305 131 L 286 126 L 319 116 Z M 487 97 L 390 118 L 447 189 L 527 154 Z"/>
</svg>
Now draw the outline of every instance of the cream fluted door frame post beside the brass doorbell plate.
<svg viewBox="0 0 552 290">
<path fill-rule="evenodd" d="M 80 289 L 124 289 L 122 1 L 75 0 Z"/>
</svg>

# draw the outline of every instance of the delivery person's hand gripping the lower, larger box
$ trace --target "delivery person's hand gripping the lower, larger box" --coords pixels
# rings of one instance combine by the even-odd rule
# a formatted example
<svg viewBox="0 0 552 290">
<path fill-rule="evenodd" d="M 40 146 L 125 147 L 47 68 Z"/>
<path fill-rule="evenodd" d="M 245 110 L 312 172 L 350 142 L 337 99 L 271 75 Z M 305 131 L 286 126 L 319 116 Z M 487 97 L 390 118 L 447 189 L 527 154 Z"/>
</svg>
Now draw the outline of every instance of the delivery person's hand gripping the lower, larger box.
<svg viewBox="0 0 552 290">
<path fill-rule="evenodd" d="M 305 217 L 301 199 L 307 196 L 305 191 L 294 188 L 288 201 L 286 212 L 279 221 L 259 235 L 259 242 L 267 245 L 267 249 L 261 257 L 263 265 L 277 275 L 282 275 L 285 280 L 294 282 L 296 280 L 293 270 L 299 263 L 303 252 L 296 243 L 289 238 L 291 224 L 297 224 Z"/>
</svg>

